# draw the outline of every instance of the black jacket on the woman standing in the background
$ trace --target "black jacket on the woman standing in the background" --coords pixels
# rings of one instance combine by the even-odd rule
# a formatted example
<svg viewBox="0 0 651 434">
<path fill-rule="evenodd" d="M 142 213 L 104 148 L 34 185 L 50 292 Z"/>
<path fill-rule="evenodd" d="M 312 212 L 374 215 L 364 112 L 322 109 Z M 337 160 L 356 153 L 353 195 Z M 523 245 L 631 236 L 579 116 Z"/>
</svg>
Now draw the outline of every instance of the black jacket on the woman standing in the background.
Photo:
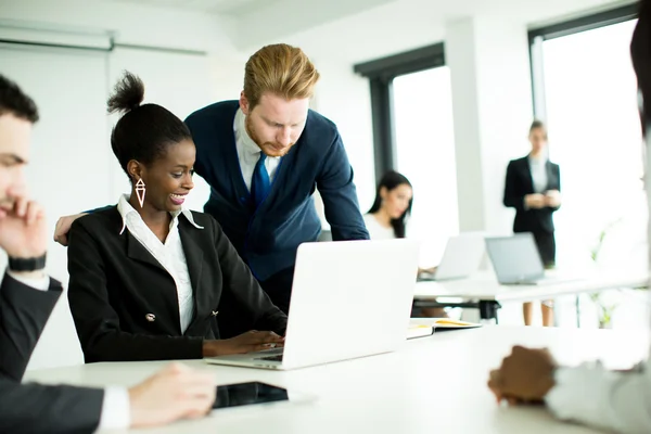
<svg viewBox="0 0 651 434">
<path fill-rule="evenodd" d="M 558 164 L 547 161 L 547 189 L 561 191 L 561 171 Z M 552 215 L 558 208 L 525 209 L 524 196 L 533 194 L 534 181 L 528 156 L 513 159 L 507 168 L 505 183 L 505 206 L 515 208 L 513 232 L 554 231 Z"/>
</svg>

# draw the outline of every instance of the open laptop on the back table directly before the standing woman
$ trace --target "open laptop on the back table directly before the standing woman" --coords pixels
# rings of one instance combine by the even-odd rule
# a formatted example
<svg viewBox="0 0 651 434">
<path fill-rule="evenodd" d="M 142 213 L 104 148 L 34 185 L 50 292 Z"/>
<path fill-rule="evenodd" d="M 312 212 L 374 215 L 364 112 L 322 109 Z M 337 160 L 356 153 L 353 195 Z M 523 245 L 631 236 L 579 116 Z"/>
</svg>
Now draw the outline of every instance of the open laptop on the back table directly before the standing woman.
<svg viewBox="0 0 651 434">
<path fill-rule="evenodd" d="M 577 280 L 547 277 L 532 233 L 486 238 L 486 251 L 501 284 L 541 285 Z"/>
</svg>

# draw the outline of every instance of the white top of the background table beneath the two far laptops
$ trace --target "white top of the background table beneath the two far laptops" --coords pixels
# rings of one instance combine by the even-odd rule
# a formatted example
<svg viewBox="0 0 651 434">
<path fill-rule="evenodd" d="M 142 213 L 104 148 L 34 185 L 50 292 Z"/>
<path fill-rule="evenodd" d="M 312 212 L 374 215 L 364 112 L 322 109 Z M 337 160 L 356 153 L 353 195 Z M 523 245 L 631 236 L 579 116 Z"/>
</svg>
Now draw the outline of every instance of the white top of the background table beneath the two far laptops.
<svg viewBox="0 0 651 434">
<path fill-rule="evenodd" d="M 418 282 L 414 298 L 461 297 L 478 301 L 516 302 L 544 299 L 582 292 L 598 292 L 617 288 L 639 288 L 649 281 L 643 271 L 592 272 L 584 279 L 541 285 L 501 285 L 492 273 L 443 282 Z"/>
</svg>

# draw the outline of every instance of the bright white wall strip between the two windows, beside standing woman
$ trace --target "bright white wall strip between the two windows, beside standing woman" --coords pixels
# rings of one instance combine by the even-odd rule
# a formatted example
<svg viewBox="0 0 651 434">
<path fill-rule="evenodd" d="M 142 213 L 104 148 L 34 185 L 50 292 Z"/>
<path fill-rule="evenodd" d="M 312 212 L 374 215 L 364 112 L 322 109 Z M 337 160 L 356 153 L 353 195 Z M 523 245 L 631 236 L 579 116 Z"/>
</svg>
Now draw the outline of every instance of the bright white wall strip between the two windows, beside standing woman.
<svg viewBox="0 0 651 434">
<path fill-rule="evenodd" d="M 475 29 L 484 229 L 510 233 L 514 214 L 502 205 L 507 164 L 528 152 L 533 120 L 526 23 L 483 16 L 475 20 Z"/>
</svg>

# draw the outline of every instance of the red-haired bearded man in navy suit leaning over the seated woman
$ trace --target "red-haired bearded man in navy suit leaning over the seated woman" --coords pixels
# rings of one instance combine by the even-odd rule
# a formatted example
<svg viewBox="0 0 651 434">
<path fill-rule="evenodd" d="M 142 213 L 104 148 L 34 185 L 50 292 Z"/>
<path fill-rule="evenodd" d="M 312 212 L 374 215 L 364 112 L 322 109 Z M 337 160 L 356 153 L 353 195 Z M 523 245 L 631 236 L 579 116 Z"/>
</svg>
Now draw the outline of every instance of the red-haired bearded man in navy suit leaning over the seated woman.
<svg viewBox="0 0 651 434">
<path fill-rule="evenodd" d="M 267 46 L 246 63 L 239 101 L 208 105 L 186 119 L 196 145 L 196 173 L 212 188 L 204 210 L 284 312 L 296 250 L 321 231 L 315 189 L 334 241 L 369 238 L 336 126 L 309 110 L 318 79 L 301 49 Z M 58 242 L 67 243 L 76 217 L 60 219 Z M 222 314 L 220 321 L 228 321 Z"/>
</svg>

